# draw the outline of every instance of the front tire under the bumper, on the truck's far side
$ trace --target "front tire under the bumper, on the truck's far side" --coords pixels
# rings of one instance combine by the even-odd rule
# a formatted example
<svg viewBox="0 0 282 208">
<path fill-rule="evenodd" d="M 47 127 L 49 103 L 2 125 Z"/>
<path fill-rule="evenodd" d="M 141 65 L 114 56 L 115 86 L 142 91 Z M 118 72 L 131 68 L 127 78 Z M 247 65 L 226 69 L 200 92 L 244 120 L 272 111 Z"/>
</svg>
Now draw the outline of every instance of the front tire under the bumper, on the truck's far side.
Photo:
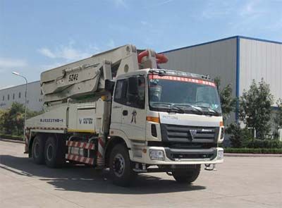
<svg viewBox="0 0 282 208">
<path fill-rule="evenodd" d="M 192 183 L 196 181 L 201 171 L 201 165 L 195 166 L 195 169 L 181 169 L 173 171 L 173 178 L 176 179 L 178 183 Z"/>
</svg>

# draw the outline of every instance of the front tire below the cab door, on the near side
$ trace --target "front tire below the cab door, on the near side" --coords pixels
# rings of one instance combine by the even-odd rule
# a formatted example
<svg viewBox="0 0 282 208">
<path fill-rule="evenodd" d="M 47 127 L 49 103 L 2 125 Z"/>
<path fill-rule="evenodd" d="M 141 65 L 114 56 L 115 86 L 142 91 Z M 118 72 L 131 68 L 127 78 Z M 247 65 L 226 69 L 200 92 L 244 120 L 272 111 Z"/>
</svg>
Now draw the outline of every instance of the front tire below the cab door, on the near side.
<svg viewBox="0 0 282 208">
<path fill-rule="evenodd" d="M 125 145 L 116 145 L 110 155 L 110 175 L 113 183 L 120 186 L 128 186 L 137 175 L 129 158 Z"/>
</svg>

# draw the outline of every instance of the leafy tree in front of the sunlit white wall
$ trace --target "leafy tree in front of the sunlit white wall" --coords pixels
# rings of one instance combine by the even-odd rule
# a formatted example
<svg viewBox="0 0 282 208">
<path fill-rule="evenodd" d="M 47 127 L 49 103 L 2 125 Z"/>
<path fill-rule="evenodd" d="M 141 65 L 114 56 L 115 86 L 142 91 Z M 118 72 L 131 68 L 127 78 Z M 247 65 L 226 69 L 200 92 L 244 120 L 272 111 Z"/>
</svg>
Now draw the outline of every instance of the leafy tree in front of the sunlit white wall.
<svg viewBox="0 0 282 208">
<path fill-rule="evenodd" d="M 264 140 L 269 134 L 273 100 L 269 85 L 263 78 L 258 85 L 252 80 L 250 90 L 244 90 L 240 97 L 239 117 L 246 128 L 252 130 L 252 137 Z"/>
</svg>

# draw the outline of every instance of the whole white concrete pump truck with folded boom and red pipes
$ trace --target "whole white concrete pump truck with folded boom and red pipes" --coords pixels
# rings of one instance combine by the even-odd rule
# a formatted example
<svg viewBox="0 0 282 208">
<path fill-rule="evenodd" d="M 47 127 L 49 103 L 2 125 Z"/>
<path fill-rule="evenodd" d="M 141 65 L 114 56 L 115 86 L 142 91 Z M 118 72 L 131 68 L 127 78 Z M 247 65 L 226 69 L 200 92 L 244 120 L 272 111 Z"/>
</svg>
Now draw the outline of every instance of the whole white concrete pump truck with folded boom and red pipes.
<svg viewBox="0 0 282 208">
<path fill-rule="evenodd" d="M 44 71 L 44 114 L 26 121 L 25 153 L 51 168 L 109 168 L 122 186 L 152 172 L 192 183 L 201 164 L 223 162 L 219 93 L 207 75 L 160 68 L 166 61 L 128 44 Z"/>
</svg>

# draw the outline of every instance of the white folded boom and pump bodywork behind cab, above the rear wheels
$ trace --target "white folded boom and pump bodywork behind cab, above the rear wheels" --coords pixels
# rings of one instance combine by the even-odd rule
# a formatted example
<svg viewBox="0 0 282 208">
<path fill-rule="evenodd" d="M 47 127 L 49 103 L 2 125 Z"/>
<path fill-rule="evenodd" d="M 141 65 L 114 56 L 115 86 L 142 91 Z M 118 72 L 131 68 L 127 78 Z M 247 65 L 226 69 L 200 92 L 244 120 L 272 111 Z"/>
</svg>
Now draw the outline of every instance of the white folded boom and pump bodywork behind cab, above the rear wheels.
<svg viewBox="0 0 282 208">
<path fill-rule="evenodd" d="M 106 133 L 111 105 L 105 80 L 141 68 L 156 68 L 154 51 L 138 63 L 136 47 L 127 44 L 41 74 L 45 113 L 30 118 L 26 127 L 48 132 Z M 87 99 L 87 101 L 85 100 Z M 81 100 L 83 100 L 81 102 Z"/>
</svg>

